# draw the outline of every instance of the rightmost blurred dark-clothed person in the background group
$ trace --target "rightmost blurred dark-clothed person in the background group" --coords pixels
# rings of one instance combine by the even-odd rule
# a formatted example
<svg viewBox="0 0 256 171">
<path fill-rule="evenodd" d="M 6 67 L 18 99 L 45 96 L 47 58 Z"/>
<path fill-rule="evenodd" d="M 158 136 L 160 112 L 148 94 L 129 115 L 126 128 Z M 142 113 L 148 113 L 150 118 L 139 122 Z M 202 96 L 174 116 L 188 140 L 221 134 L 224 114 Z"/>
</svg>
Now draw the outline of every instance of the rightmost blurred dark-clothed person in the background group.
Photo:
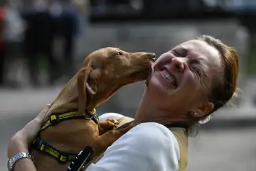
<svg viewBox="0 0 256 171">
<path fill-rule="evenodd" d="M 61 59 L 60 66 L 58 66 L 60 76 L 69 80 L 75 74 L 75 38 L 79 34 L 79 27 L 84 29 L 85 25 L 79 26 L 82 17 L 75 1 L 51 0 L 49 1 L 49 14 L 54 21 L 54 38 L 60 38 L 64 42 L 63 51 L 59 57 Z"/>
</svg>

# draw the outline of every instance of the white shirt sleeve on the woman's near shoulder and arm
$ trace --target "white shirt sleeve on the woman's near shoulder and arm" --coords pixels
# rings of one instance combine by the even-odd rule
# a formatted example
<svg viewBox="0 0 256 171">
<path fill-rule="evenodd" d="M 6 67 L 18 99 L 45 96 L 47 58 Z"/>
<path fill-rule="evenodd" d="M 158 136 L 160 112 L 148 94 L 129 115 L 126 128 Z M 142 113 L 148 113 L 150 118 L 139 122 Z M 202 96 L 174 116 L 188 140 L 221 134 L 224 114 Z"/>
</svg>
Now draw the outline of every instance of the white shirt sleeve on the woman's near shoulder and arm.
<svg viewBox="0 0 256 171">
<path fill-rule="evenodd" d="M 86 171 L 176 171 L 179 145 L 162 124 L 147 122 L 133 127 L 107 148 Z"/>
</svg>

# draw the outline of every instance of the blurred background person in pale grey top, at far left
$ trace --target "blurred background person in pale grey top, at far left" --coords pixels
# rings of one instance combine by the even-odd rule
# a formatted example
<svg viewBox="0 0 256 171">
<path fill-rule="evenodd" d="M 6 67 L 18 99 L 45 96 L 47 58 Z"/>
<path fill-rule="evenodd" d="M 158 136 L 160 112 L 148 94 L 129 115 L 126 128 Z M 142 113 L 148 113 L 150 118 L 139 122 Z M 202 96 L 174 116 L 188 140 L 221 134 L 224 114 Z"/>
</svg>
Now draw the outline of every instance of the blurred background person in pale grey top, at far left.
<svg viewBox="0 0 256 171">
<path fill-rule="evenodd" d="M 12 1 L 5 3 L 5 17 L 3 18 L 3 36 L 2 41 L 4 43 L 3 53 L 3 66 L 5 66 L 5 73 L 8 73 L 9 77 L 6 77 L 6 86 L 17 87 L 18 79 L 17 75 L 21 63 L 21 44 L 23 41 L 23 20 L 18 12 L 18 9 Z M 12 70 L 10 68 L 17 68 Z"/>
</svg>

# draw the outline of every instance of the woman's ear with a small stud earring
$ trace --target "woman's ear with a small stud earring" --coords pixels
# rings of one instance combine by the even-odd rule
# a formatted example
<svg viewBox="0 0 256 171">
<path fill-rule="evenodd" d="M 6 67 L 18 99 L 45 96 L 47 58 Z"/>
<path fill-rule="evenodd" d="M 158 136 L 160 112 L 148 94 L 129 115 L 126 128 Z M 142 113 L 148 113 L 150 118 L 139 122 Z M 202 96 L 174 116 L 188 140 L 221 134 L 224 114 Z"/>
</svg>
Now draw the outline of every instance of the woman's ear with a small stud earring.
<svg viewBox="0 0 256 171">
<path fill-rule="evenodd" d="M 214 109 L 214 104 L 211 102 L 204 103 L 192 113 L 194 118 L 204 118 Z"/>
</svg>

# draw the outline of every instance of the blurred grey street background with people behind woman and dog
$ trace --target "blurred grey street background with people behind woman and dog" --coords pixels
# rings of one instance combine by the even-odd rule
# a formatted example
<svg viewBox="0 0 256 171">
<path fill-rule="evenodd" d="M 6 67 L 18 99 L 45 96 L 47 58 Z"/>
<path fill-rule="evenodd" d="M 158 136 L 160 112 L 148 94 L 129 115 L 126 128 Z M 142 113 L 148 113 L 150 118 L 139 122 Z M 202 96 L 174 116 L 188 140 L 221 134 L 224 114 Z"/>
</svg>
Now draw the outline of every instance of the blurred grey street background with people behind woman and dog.
<svg viewBox="0 0 256 171">
<path fill-rule="evenodd" d="M 255 0 L 0 0 L 0 170 L 16 131 L 51 103 L 102 47 L 157 55 L 209 34 L 238 50 L 239 98 L 190 138 L 188 171 L 256 170 Z M 134 116 L 144 83 L 121 88 L 98 114 Z"/>
</svg>

